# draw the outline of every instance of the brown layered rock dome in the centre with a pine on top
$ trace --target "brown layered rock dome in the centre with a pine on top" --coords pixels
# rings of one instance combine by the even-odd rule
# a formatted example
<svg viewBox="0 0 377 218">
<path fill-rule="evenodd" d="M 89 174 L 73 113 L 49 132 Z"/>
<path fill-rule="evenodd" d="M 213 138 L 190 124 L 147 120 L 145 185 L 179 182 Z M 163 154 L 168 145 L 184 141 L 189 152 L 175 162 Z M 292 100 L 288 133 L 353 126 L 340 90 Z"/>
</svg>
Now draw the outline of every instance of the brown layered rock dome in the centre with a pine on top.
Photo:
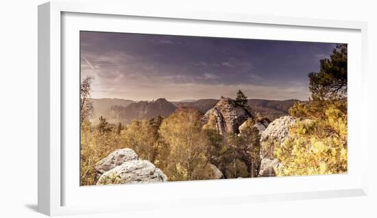
<svg viewBox="0 0 377 218">
<path fill-rule="evenodd" d="M 214 108 L 204 114 L 202 123 L 208 122 L 210 114 L 215 115 L 219 134 L 238 134 L 239 126 L 252 117 L 246 108 L 236 105 L 230 98 L 220 99 Z"/>
</svg>

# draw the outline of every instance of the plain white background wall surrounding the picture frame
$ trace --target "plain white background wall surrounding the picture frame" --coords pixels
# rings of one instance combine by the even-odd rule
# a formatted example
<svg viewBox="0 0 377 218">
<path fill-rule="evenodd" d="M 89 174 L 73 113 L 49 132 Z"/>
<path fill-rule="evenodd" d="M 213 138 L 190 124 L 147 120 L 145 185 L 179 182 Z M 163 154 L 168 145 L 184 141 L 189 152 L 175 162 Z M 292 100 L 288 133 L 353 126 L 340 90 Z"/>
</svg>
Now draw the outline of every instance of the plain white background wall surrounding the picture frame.
<svg viewBox="0 0 377 218">
<path fill-rule="evenodd" d="M 126 1 L 126 0 L 124 0 Z M 103 1 L 110 4 L 110 1 Z M 0 217 L 43 217 L 37 204 L 37 5 L 41 0 L 1 1 L 0 12 Z M 134 4 L 134 1 L 130 1 Z M 191 8 L 278 16 L 367 21 L 369 23 L 369 120 L 377 128 L 377 7 L 374 1 L 138 1 L 146 7 Z M 367 197 L 273 202 L 191 211 L 141 211 L 77 217 L 377 217 L 376 143 L 369 149 Z M 284 187 L 282 187 L 284 189 Z M 101 199 L 99 199 L 101 200 Z M 110 200 L 110 199 L 108 199 Z"/>
</svg>

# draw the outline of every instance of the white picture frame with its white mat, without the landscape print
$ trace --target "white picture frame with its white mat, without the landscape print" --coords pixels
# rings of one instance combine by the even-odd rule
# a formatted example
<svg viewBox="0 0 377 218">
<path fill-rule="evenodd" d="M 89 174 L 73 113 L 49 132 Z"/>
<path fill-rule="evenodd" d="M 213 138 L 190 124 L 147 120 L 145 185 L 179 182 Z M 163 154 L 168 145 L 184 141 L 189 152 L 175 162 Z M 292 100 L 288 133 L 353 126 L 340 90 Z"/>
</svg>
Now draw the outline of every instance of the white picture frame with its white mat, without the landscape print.
<svg viewBox="0 0 377 218">
<path fill-rule="evenodd" d="M 101 19 L 106 19 L 106 22 Z M 128 19 L 129 22 L 125 27 L 120 28 L 120 24 L 125 23 L 124 19 Z M 138 19 L 143 20 L 143 23 L 140 23 Z M 154 22 L 154 25 L 161 28 L 152 28 L 150 22 Z M 173 24 L 169 22 L 186 26 L 184 28 L 178 26 L 171 28 Z M 195 25 L 195 28 L 192 27 L 193 25 Z M 346 175 L 101 187 L 80 187 L 78 179 L 72 182 L 76 176 L 72 172 L 77 172 L 75 164 L 79 161 L 79 156 L 77 156 L 79 147 L 73 146 L 71 149 L 67 149 L 63 145 L 70 141 L 77 141 L 75 136 L 78 132 L 67 137 L 67 131 L 79 131 L 78 125 L 75 126 L 74 121 L 77 118 L 77 112 L 70 110 L 75 106 L 75 102 L 78 102 L 72 100 L 78 99 L 78 95 L 74 97 L 74 93 L 75 88 L 79 87 L 77 84 L 80 81 L 75 79 L 78 78 L 77 71 L 80 71 L 77 66 L 79 47 L 75 34 L 82 28 L 84 28 L 82 30 L 143 33 L 145 27 L 150 27 L 148 33 L 241 38 L 250 38 L 250 32 L 243 30 L 254 28 L 256 33 L 254 37 L 256 38 L 270 39 L 271 37 L 277 39 L 276 37 L 280 37 L 278 38 L 280 40 L 315 40 L 319 42 L 327 42 L 333 38 L 337 40 L 336 43 L 349 43 L 351 46 L 349 52 L 350 116 L 348 122 L 350 152 L 348 163 L 350 169 L 348 173 Z M 258 28 L 261 30 L 258 30 Z M 224 33 L 223 29 L 238 29 L 239 32 L 228 31 Z M 276 29 L 279 29 L 280 36 L 273 34 Z M 367 24 L 356 21 L 329 21 L 190 10 L 154 11 L 145 8 L 132 8 L 127 3 L 117 5 L 90 3 L 90 5 L 87 5 L 81 4 L 80 1 L 75 3 L 54 1 L 39 5 L 38 211 L 46 215 L 71 215 L 114 210 L 198 207 L 366 195 L 367 168 L 363 166 L 367 164 L 368 144 L 366 132 L 358 131 L 361 120 L 366 120 L 363 117 L 367 116 L 366 31 Z M 302 36 L 297 36 L 297 32 L 302 33 Z M 310 34 L 313 34 L 313 36 L 309 36 Z M 330 34 L 331 37 L 326 34 Z M 72 59 L 66 56 L 67 54 Z M 75 58 L 77 59 L 75 60 Z M 66 62 L 69 62 L 69 64 L 66 64 Z M 64 73 L 67 70 L 71 73 Z M 359 115 L 355 117 L 352 114 Z M 67 116 L 70 119 L 67 119 Z M 80 142 L 77 141 L 77 143 Z M 354 149 L 356 144 L 357 149 Z M 70 159 L 73 160 L 71 165 L 64 163 L 67 156 L 77 156 L 77 160 Z M 156 191 L 156 187 L 159 191 Z M 245 188 L 247 188 L 247 191 L 245 191 Z M 108 204 L 101 202 L 100 205 L 97 205 L 90 200 L 93 199 L 93 194 L 97 197 L 103 196 L 106 199 L 106 195 L 111 196 L 122 191 L 126 191 L 127 195 L 131 197 L 130 199 L 119 200 L 117 205 L 113 202 Z M 151 192 L 154 193 L 153 197 L 147 194 Z M 140 202 L 145 204 L 140 204 Z M 148 205 L 148 207 L 145 208 L 145 205 Z"/>
</svg>

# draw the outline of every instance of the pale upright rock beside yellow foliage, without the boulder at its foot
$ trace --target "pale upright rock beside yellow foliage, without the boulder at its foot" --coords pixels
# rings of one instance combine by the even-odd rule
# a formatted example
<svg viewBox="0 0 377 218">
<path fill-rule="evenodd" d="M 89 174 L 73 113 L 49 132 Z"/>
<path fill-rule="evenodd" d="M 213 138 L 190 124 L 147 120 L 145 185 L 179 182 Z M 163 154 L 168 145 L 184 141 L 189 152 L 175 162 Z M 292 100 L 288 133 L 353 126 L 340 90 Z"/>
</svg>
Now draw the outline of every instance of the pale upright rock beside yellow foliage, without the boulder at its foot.
<svg viewBox="0 0 377 218">
<path fill-rule="evenodd" d="M 289 127 L 295 123 L 296 119 L 291 116 L 280 117 L 269 123 L 260 136 L 260 158 L 273 159 L 274 143 L 282 143 L 288 136 Z"/>
</svg>

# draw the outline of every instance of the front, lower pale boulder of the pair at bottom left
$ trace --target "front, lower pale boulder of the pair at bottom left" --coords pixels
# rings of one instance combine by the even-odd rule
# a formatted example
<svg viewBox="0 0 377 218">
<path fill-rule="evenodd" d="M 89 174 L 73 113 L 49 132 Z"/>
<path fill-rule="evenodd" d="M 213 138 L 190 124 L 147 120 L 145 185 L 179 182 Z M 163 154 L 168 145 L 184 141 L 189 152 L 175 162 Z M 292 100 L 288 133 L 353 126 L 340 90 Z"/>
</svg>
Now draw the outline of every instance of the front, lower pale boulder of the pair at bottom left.
<svg viewBox="0 0 377 218">
<path fill-rule="evenodd" d="M 102 174 L 97 185 L 166 181 L 167 176 L 148 160 L 130 160 Z"/>
</svg>

